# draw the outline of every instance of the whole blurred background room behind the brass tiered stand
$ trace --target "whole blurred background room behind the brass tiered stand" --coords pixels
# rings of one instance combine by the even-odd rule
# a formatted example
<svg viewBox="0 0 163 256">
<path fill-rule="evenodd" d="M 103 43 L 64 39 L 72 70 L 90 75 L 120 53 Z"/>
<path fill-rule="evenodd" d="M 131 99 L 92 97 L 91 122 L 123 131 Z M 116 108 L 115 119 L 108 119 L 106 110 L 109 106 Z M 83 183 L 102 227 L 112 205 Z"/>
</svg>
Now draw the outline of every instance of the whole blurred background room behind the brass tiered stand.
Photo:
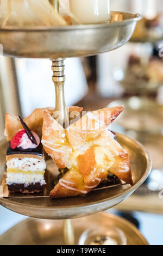
<svg viewBox="0 0 163 256">
<path fill-rule="evenodd" d="M 163 245 L 163 1 L 111 0 L 111 10 L 133 11 L 144 18 L 120 49 L 66 59 L 66 104 L 85 111 L 126 106 L 112 130 L 144 144 L 153 170 L 145 184 L 113 211 L 136 224 L 149 243 Z M 0 57 L 0 139 L 5 112 L 27 117 L 36 107 L 55 106 L 50 66 L 48 59 Z M 0 208 L 0 222 L 4 215 L 0 234 L 24 218 Z M 8 216 L 12 221 L 6 224 Z"/>
</svg>

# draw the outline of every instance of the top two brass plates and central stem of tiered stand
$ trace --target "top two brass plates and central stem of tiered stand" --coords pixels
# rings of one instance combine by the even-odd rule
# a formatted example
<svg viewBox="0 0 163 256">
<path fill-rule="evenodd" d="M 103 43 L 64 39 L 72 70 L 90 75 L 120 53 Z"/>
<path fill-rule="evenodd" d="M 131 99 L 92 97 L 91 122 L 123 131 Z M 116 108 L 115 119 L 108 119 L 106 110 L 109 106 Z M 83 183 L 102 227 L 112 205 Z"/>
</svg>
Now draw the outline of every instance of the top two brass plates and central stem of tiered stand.
<svg viewBox="0 0 163 256">
<path fill-rule="evenodd" d="M 91 56 L 124 45 L 131 38 L 136 22 L 140 19 L 141 16 L 137 14 L 112 12 L 111 22 L 99 25 L 0 29 L 0 43 L 5 56 L 52 59 L 56 89 L 55 111 L 61 111 L 59 121 L 65 124 L 64 58 Z M 124 135 L 118 135 L 117 140 L 129 153 L 134 186 L 107 188 L 86 196 L 55 200 L 48 197 L 1 197 L 0 204 L 19 214 L 51 220 L 78 218 L 112 208 L 129 197 L 146 180 L 151 170 L 151 158 L 140 143 Z M 5 171 L 6 143 L 2 142 L 0 147 L 3 151 L 0 157 L 1 181 Z M 70 220 L 65 221 L 64 237 L 66 244 L 74 243 Z"/>
</svg>

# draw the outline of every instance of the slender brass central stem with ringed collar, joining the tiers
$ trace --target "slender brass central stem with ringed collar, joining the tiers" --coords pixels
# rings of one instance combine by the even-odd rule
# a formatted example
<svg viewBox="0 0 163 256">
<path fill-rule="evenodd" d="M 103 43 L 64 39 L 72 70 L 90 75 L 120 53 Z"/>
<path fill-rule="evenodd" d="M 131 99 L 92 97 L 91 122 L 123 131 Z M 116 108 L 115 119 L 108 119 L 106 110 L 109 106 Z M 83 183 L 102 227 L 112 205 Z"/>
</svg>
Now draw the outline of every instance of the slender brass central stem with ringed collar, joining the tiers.
<svg viewBox="0 0 163 256">
<path fill-rule="evenodd" d="M 68 126 L 68 114 L 65 104 L 65 65 L 64 59 L 52 59 L 53 82 L 55 86 L 55 112 L 53 118 L 58 120 L 63 127 Z M 71 220 L 64 220 L 65 245 L 74 245 L 74 230 Z"/>
</svg>

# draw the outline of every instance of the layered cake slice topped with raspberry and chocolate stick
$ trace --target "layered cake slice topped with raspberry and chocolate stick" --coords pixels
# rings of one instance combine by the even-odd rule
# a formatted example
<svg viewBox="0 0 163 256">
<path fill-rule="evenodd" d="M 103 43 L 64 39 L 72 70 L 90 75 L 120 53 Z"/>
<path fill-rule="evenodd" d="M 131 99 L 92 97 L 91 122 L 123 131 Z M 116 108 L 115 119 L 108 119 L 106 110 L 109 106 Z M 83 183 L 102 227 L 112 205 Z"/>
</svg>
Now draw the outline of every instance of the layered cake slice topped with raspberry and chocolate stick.
<svg viewBox="0 0 163 256">
<path fill-rule="evenodd" d="M 12 137 L 7 149 L 7 185 L 11 193 L 41 192 L 46 184 L 42 144 L 39 136 L 20 121 L 24 129 Z"/>
</svg>

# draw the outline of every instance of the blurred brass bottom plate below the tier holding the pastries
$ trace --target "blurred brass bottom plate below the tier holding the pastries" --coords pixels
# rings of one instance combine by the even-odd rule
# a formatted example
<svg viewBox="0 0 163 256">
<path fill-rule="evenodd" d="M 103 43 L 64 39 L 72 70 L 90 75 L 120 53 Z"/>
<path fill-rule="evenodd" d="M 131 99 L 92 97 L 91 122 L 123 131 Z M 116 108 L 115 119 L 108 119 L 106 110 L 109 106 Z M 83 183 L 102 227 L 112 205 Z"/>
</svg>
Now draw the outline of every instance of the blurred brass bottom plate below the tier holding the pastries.
<svg viewBox="0 0 163 256">
<path fill-rule="evenodd" d="M 83 231 L 93 225 L 113 225 L 121 229 L 127 237 L 127 245 L 148 245 L 145 237 L 130 222 L 123 218 L 108 214 L 91 215 L 72 220 L 78 245 Z M 62 221 L 37 220 L 29 218 L 9 229 L 0 237 L 0 245 L 64 245 Z M 14 235 L 16 234 L 16 235 Z"/>
</svg>

